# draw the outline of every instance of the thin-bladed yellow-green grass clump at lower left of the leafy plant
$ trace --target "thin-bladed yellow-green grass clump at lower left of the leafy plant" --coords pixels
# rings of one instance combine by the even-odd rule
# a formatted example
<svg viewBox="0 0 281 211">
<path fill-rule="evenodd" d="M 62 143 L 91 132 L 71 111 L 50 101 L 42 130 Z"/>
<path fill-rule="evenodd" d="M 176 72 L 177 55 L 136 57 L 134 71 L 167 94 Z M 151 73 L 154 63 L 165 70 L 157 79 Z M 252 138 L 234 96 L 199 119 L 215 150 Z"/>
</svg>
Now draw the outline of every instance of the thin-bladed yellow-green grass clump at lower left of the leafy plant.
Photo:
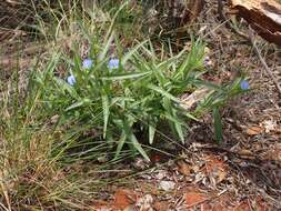
<svg viewBox="0 0 281 211">
<path fill-rule="evenodd" d="M 89 181 L 67 173 L 51 154 L 54 141 L 62 140 L 61 132 L 53 131 L 47 113 L 40 113 L 38 96 L 28 94 L 19 98 L 21 107 L 12 103 L 17 97 L 1 99 L 0 210 L 82 209 L 82 199 L 71 201 L 78 200 Z M 94 195 L 94 185 L 88 187 Z"/>
</svg>

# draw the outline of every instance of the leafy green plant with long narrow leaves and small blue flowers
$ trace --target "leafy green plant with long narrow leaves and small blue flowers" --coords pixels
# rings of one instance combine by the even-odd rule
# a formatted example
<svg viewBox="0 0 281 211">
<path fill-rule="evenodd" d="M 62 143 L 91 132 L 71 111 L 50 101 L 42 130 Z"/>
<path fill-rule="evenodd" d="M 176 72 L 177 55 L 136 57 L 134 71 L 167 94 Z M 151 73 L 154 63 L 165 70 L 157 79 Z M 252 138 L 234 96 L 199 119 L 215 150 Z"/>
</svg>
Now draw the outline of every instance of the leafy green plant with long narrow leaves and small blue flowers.
<svg viewBox="0 0 281 211">
<path fill-rule="evenodd" d="M 188 120 L 197 120 L 202 112 L 218 109 L 241 91 L 239 80 L 224 87 L 200 80 L 204 57 L 201 41 L 193 41 L 189 53 L 183 50 L 169 58 L 159 58 L 152 43 L 144 41 L 120 56 L 120 63 L 112 69 L 108 61 L 113 40 L 112 33 L 98 48 L 101 51 L 90 56 L 92 64 L 87 68 L 79 56 L 74 59 L 53 56 L 48 71 L 40 73 L 37 81 L 44 87 L 41 99 L 46 112 L 60 117 L 58 125 L 94 129 L 94 139 L 104 140 L 111 152 L 114 151 L 114 158 L 119 158 L 127 145 L 131 153 L 140 153 L 149 160 L 143 144 L 152 144 L 155 133 L 164 132 L 165 123 L 173 138 L 184 142 Z M 92 48 L 97 46 L 92 43 Z M 67 63 L 76 79 L 73 83 L 56 77 L 59 61 Z M 210 89 L 208 97 L 192 113 L 184 110 L 178 97 L 202 87 Z M 214 117 L 220 125 L 217 110 Z M 82 135 L 81 131 L 78 137 Z"/>
</svg>

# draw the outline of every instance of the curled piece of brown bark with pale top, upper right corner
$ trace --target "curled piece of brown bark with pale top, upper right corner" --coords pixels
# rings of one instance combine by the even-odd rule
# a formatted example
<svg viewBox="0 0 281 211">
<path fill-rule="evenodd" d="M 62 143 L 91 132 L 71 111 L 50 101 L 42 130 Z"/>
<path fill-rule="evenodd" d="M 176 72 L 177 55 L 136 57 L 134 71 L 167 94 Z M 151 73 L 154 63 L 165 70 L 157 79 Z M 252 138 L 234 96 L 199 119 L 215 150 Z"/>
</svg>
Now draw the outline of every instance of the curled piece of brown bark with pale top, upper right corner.
<svg viewBox="0 0 281 211">
<path fill-rule="evenodd" d="M 281 4 L 274 0 L 231 0 L 232 13 L 245 19 L 269 42 L 281 46 Z"/>
</svg>

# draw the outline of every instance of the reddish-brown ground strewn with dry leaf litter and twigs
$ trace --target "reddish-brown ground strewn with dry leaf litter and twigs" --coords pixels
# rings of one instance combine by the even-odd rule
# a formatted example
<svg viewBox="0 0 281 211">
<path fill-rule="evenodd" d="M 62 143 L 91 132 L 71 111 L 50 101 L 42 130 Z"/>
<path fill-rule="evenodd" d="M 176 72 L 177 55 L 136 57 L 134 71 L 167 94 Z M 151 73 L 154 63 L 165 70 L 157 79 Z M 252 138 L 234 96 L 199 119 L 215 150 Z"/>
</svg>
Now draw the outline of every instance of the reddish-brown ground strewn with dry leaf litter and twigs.
<svg viewBox="0 0 281 211">
<path fill-rule="evenodd" d="M 208 3 L 198 27 L 209 48 L 207 77 L 220 83 L 241 70 L 249 76 L 253 89 L 223 110 L 224 142 L 213 143 L 211 117 L 205 115 L 191 127 L 178 159 L 154 154 L 153 164 L 139 158 L 121 165 L 122 172 L 101 173 L 100 177 L 120 179 L 118 185 L 108 184 L 90 202 L 92 210 L 281 209 L 281 98 L 251 43 L 219 22 L 214 7 Z M 258 44 L 281 82 L 280 50 L 262 40 Z M 6 54 L 10 52 L 8 49 Z M 1 64 L 11 62 L 7 59 Z M 20 62 L 28 66 L 24 60 Z M 0 77 L 10 77 L 4 73 Z M 126 170 L 136 172 L 128 175 Z"/>
</svg>

